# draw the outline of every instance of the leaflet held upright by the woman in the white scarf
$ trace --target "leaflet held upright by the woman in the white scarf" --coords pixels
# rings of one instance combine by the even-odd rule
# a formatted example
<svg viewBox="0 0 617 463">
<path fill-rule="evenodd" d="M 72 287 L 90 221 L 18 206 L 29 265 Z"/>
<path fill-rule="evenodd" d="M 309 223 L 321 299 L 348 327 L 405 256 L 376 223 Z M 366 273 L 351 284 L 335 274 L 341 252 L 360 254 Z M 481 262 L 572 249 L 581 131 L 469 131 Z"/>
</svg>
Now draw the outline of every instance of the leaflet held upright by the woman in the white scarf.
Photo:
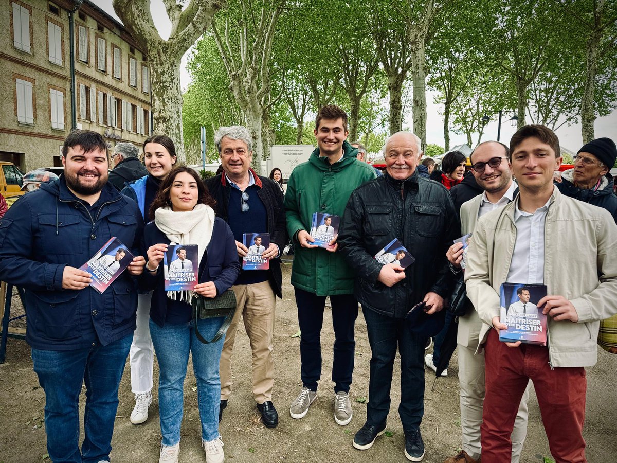
<svg viewBox="0 0 617 463">
<path fill-rule="evenodd" d="M 170 244 L 163 259 L 165 291 L 193 291 L 199 272 L 197 244 Z"/>
</svg>

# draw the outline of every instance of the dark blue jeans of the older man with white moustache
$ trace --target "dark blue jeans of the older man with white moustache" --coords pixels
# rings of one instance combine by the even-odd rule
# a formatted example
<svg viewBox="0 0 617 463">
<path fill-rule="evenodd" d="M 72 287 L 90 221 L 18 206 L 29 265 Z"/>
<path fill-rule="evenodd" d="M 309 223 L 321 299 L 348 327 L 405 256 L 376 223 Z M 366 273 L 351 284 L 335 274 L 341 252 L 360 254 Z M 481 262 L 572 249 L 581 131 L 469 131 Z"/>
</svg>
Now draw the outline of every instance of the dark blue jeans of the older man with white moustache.
<svg viewBox="0 0 617 463">
<path fill-rule="evenodd" d="M 400 353 L 399 415 L 404 430 L 419 428 L 424 415 L 424 344 L 426 337 L 414 335 L 405 319 L 394 319 L 370 309 L 363 310 L 371 368 L 368 381 L 366 422 L 381 426 L 390 411 L 390 388 L 396 349 Z"/>
</svg>

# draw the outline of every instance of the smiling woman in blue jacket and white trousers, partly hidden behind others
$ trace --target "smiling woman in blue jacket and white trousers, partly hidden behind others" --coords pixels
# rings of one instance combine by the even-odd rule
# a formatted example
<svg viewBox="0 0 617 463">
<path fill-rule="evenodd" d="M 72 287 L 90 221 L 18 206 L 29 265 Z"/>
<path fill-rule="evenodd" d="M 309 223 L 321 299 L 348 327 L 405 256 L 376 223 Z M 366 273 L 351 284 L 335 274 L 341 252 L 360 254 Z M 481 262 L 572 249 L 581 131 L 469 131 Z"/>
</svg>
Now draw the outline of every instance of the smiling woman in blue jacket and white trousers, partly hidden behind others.
<svg viewBox="0 0 617 463">
<path fill-rule="evenodd" d="M 144 222 L 149 222 L 150 206 L 159 192 L 159 185 L 176 164 L 176 147 L 171 138 L 165 135 L 153 135 L 144 142 L 144 156 L 148 175 L 132 182 L 126 182 L 122 190 L 129 198 L 135 200 Z M 131 423 L 141 424 L 148 419 L 148 407 L 152 403 L 152 367 L 154 366 L 154 348 L 150 339 L 148 320 L 150 319 L 151 294 L 138 294 L 137 328 L 133 333 L 133 343 L 129 352 L 131 364 L 131 391 L 135 394 L 135 407 L 131 412 Z"/>
</svg>

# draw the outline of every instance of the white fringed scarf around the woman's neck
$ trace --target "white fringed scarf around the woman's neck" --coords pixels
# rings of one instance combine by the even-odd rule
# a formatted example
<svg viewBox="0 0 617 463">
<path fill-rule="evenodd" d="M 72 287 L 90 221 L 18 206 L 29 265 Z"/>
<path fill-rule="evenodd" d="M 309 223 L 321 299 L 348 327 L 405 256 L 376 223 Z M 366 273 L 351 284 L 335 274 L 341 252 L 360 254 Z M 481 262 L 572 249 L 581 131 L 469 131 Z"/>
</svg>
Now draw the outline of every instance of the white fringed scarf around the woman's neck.
<svg viewBox="0 0 617 463">
<path fill-rule="evenodd" d="M 199 262 L 194 267 L 199 274 L 199 264 L 205 249 L 212 239 L 214 211 L 206 204 L 197 204 L 193 211 L 172 211 L 170 206 L 159 207 L 154 211 L 154 223 L 170 240 L 170 244 L 197 244 Z M 191 303 L 193 291 L 167 291 L 167 297 Z"/>
</svg>

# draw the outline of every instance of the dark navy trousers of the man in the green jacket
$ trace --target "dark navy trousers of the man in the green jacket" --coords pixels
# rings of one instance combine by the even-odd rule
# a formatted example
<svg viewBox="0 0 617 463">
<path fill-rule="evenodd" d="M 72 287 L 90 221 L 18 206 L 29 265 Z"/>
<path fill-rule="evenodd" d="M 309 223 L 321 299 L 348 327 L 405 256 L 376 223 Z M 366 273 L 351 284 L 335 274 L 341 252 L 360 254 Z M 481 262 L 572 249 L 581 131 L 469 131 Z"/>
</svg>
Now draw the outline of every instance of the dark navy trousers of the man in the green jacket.
<svg viewBox="0 0 617 463">
<path fill-rule="evenodd" d="M 321 327 L 326 296 L 296 290 L 298 323 L 300 325 L 300 362 L 302 385 L 317 391 L 321 377 Z M 330 296 L 332 326 L 334 328 L 334 360 L 332 380 L 334 392 L 349 393 L 354 374 L 354 324 L 358 318 L 358 301 L 353 294 Z"/>
</svg>

